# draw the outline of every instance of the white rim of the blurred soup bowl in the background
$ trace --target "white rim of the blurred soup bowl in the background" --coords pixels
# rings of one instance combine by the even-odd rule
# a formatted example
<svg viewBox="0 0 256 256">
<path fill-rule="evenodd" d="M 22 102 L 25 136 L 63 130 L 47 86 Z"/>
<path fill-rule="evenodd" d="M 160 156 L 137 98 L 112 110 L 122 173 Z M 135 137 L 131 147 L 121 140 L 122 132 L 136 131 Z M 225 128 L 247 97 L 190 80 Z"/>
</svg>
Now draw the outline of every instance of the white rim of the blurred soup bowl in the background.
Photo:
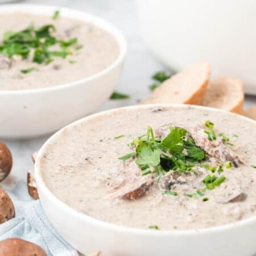
<svg viewBox="0 0 256 256">
<path fill-rule="evenodd" d="M 126 43 L 125 36 L 112 23 L 106 21 L 105 19 L 100 18 L 99 16 L 87 13 L 85 11 L 69 8 L 69 7 L 62 7 L 58 5 L 40 5 L 36 3 L 31 3 L 31 4 L 19 3 L 19 4 L 1 5 L 0 15 L 8 14 L 8 13 L 30 13 L 30 14 L 42 14 L 42 15 L 49 16 L 49 14 L 50 13 L 52 14 L 55 10 L 60 10 L 62 13 L 64 13 L 63 15 L 64 17 L 69 17 L 73 19 L 82 20 L 84 22 L 92 23 L 95 26 L 102 28 L 102 30 L 112 35 L 115 38 L 115 40 L 117 40 L 117 43 L 119 46 L 119 54 L 117 58 L 108 67 L 102 69 L 102 71 L 97 72 L 91 76 L 85 77 L 84 79 L 77 79 L 65 84 L 48 86 L 45 88 L 43 87 L 43 88 L 23 89 L 23 90 L 0 90 L 0 95 L 10 96 L 10 95 L 19 95 L 19 94 L 31 94 L 31 93 L 34 94 L 34 93 L 52 92 L 55 90 L 69 88 L 72 86 L 90 82 L 92 80 L 97 80 L 100 77 L 106 75 L 106 73 L 109 73 L 110 71 L 112 71 L 112 69 L 118 67 L 118 65 L 122 64 L 127 53 L 127 43 Z M 79 18 L 77 18 L 76 14 L 77 16 L 79 16 Z"/>
</svg>

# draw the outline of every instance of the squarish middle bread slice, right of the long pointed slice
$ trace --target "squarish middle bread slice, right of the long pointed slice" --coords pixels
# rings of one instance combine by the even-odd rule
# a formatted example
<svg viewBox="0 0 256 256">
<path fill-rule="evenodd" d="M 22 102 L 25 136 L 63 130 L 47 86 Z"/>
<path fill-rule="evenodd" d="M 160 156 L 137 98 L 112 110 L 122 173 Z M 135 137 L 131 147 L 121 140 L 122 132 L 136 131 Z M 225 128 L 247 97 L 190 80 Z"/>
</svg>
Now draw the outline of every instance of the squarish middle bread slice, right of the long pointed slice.
<svg viewBox="0 0 256 256">
<path fill-rule="evenodd" d="M 208 84 L 202 105 L 242 114 L 244 98 L 243 84 L 240 80 L 219 77 Z"/>
</svg>

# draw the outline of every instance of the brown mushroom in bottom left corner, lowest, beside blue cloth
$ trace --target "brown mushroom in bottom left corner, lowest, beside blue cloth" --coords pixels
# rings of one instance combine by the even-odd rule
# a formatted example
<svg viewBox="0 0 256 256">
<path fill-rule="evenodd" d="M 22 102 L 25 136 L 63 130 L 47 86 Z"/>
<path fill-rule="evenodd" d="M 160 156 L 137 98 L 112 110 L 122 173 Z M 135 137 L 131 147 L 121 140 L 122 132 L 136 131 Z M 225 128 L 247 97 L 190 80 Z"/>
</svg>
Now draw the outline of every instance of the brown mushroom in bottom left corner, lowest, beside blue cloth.
<svg viewBox="0 0 256 256">
<path fill-rule="evenodd" d="M 47 256 L 35 243 L 19 238 L 9 238 L 0 242 L 0 256 Z"/>
</svg>

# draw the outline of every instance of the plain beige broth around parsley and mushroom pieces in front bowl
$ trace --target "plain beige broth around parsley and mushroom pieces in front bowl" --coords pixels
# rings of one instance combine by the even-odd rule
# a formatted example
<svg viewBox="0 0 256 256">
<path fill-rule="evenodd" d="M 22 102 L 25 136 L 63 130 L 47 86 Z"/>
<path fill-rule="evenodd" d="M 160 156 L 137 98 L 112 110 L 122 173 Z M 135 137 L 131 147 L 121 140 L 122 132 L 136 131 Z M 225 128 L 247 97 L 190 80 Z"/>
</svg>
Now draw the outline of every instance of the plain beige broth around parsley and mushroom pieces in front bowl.
<svg viewBox="0 0 256 256">
<path fill-rule="evenodd" d="M 132 150 L 127 146 L 146 131 L 166 123 L 174 126 L 195 127 L 206 120 L 214 122 L 216 134 L 224 133 L 234 144 L 232 149 L 245 160 L 238 168 L 226 169 L 226 180 L 204 197 L 183 196 L 203 186 L 199 177 L 191 176 L 193 185 L 172 189 L 178 195 L 165 195 L 155 182 L 141 199 L 128 201 L 115 196 L 115 189 L 124 179 L 141 178 L 142 171 L 134 160 L 118 158 Z M 158 225 L 161 230 L 198 229 L 235 222 L 256 211 L 256 152 L 255 122 L 235 114 L 184 108 L 154 107 L 120 109 L 85 119 L 76 126 L 64 129 L 40 159 L 39 168 L 49 190 L 61 201 L 81 213 L 99 220 L 133 228 L 147 229 Z M 114 139 L 118 135 L 125 137 Z M 237 134 L 238 137 L 234 137 Z M 217 174 L 216 174 L 217 175 Z M 114 189 L 113 189 L 114 188 Z M 226 203 L 226 200 L 245 192 L 245 201 Z"/>
</svg>

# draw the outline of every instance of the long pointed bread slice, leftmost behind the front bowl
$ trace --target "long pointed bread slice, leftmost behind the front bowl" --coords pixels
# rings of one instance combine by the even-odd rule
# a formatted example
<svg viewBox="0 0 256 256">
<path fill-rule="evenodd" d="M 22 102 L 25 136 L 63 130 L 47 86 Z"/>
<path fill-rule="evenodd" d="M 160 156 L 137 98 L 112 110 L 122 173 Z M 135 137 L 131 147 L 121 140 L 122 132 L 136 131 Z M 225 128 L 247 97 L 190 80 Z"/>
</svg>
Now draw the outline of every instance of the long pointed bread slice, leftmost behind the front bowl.
<svg viewBox="0 0 256 256">
<path fill-rule="evenodd" d="M 164 81 L 142 104 L 200 105 L 210 77 L 210 64 L 195 63 Z"/>
</svg>

